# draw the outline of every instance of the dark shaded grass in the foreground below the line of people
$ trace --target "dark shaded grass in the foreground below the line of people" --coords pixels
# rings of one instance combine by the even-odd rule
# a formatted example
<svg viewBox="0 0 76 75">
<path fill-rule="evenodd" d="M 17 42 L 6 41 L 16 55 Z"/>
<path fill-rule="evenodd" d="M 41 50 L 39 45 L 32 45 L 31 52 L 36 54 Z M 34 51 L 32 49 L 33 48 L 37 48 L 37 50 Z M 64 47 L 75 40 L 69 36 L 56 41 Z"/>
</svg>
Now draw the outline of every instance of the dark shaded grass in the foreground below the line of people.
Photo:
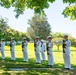
<svg viewBox="0 0 76 75">
<path fill-rule="evenodd" d="M 76 75 L 76 69 L 65 70 L 64 65 L 61 63 L 54 64 L 53 68 L 47 66 L 48 62 L 42 61 L 41 64 L 36 64 L 35 60 L 29 59 L 28 62 L 24 62 L 22 58 L 17 58 L 16 61 L 12 61 L 10 58 L 2 60 L 0 58 L 0 70 L 4 72 L 1 75 Z M 72 64 L 72 67 L 76 65 Z M 24 71 L 11 71 L 10 68 L 29 68 Z M 34 69 L 36 68 L 36 69 Z M 37 69 L 38 68 L 38 69 Z M 47 69 L 41 69 L 47 68 Z M 11 71 L 11 72 L 10 72 Z"/>
</svg>

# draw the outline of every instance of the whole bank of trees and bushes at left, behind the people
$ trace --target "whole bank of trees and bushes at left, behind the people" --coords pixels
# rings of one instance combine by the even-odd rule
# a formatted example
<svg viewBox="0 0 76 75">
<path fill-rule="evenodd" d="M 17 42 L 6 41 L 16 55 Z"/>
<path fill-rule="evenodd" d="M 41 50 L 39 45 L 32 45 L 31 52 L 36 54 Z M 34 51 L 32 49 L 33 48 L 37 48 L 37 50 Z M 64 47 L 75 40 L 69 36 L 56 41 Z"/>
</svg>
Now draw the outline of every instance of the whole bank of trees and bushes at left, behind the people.
<svg viewBox="0 0 76 75">
<path fill-rule="evenodd" d="M 22 40 L 23 37 L 26 37 L 29 41 L 29 38 L 26 36 L 26 33 L 19 32 L 14 30 L 8 26 L 8 19 L 7 18 L 0 18 L 0 40 L 4 38 L 5 40 L 10 40 L 12 37 L 15 38 L 16 41 Z"/>
</svg>

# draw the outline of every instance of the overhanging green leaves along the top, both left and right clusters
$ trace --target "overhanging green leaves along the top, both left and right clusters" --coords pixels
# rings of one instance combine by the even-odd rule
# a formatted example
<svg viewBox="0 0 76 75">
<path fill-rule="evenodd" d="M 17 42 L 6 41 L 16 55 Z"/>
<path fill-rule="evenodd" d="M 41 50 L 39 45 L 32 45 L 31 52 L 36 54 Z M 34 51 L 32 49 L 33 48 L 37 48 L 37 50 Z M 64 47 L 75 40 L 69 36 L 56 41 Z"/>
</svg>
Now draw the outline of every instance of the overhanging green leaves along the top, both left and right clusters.
<svg viewBox="0 0 76 75">
<path fill-rule="evenodd" d="M 17 18 L 28 8 L 33 9 L 35 13 L 44 12 L 45 8 L 49 8 L 49 3 L 53 2 L 55 0 L 0 0 L 0 6 L 4 8 L 14 7 Z M 63 3 L 68 3 L 69 6 L 63 10 L 62 14 L 72 20 L 76 19 L 76 0 L 63 0 Z"/>
</svg>

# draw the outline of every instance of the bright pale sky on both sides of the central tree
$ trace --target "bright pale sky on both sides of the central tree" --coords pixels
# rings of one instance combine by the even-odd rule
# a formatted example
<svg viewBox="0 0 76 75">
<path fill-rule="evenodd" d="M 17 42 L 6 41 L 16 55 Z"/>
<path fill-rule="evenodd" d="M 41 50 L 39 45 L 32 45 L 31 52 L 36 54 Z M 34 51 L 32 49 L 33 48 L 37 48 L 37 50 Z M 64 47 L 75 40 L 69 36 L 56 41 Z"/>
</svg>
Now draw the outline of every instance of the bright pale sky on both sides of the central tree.
<svg viewBox="0 0 76 75">
<path fill-rule="evenodd" d="M 44 9 L 48 18 L 48 22 L 52 27 L 52 32 L 70 33 L 74 38 L 76 38 L 76 20 L 70 20 L 69 18 L 64 18 L 61 14 L 63 9 L 68 4 L 63 4 L 61 0 L 56 0 L 54 3 L 50 3 L 48 9 Z M 8 18 L 8 25 L 18 31 L 26 32 L 28 25 L 28 19 L 31 19 L 34 15 L 34 11 L 26 9 L 23 15 L 20 15 L 18 19 L 15 18 L 14 8 L 3 8 L 0 7 L 0 15 L 3 18 Z"/>
</svg>

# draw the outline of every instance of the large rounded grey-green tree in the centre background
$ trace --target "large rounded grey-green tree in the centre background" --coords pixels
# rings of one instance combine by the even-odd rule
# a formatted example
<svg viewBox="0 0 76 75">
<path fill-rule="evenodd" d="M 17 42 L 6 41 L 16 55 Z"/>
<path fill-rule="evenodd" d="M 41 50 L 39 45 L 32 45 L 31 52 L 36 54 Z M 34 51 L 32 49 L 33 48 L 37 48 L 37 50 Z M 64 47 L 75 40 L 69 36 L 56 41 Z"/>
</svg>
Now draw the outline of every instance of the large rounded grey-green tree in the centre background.
<svg viewBox="0 0 76 75">
<path fill-rule="evenodd" d="M 28 27 L 27 33 L 31 39 L 34 39 L 37 35 L 41 39 L 46 39 L 51 32 L 50 24 L 45 15 L 40 16 L 39 14 L 35 14 L 32 19 L 28 20 L 28 24 L 30 27 Z"/>
</svg>

